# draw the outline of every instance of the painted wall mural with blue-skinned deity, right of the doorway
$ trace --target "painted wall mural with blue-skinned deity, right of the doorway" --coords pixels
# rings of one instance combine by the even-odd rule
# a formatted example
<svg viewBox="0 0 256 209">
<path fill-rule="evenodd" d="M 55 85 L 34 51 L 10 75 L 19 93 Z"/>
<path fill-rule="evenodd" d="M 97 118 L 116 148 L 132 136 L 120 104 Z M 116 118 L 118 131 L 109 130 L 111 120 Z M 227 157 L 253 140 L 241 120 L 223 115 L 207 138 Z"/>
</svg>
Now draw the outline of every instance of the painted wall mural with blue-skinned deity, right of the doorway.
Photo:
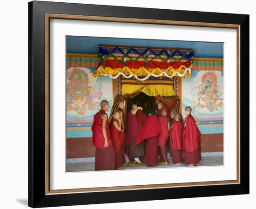
<svg viewBox="0 0 256 209">
<path fill-rule="evenodd" d="M 182 79 L 182 113 L 191 106 L 202 134 L 223 133 L 223 71 L 194 70 Z M 189 91 L 188 91 L 189 90 Z"/>
</svg>

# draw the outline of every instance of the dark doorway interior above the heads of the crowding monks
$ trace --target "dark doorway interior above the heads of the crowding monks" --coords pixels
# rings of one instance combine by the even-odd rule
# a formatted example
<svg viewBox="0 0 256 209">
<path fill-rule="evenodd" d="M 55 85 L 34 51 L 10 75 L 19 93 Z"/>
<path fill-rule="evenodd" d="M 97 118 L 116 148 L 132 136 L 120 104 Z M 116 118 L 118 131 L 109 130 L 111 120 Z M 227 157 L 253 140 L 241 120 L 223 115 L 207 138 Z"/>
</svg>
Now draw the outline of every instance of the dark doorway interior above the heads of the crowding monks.
<svg viewBox="0 0 256 209">
<path fill-rule="evenodd" d="M 127 111 L 131 110 L 132 104 L 137 104 L 143 108 L 143 112 L 148 115 L 151 110 L 157 110 L 157 104 L 155 103 L 155 97 L 150 97 L 147 94 L 141 92 L 133 98 L 127 99 Z"/>
</svg>

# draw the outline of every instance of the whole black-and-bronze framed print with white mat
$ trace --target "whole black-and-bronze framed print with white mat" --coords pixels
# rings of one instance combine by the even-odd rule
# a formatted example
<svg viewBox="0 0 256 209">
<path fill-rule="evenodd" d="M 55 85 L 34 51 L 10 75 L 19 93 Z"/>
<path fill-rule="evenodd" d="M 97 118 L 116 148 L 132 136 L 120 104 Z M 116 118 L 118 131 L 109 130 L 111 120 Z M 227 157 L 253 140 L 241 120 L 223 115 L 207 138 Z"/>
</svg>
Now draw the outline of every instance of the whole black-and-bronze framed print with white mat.
<svg viewBox="0 0 256 209">
<path fill-rule="evenodd" d="M 249 194 L 249 15 L 32 1 L 28 205 Z"/>
</svg>

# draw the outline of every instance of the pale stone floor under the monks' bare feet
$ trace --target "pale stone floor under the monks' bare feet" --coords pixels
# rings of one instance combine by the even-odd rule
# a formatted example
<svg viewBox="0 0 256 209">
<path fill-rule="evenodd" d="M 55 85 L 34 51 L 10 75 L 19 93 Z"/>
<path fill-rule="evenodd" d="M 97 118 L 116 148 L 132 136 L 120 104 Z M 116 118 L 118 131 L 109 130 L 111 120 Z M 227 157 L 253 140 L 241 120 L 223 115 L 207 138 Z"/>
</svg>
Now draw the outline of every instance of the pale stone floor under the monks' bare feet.
<svg viewBox="0 0 256 209">
<path fill-rule="evenodd" d="M 129 162 L 128 157 L 126 158 L 127 162 Z M 181 166 L 176 166 L 174 163 L 171 163 L 171 158 L 168 158 L 168 165 L 157 165 L 154 169 L 157 168 L 177 168 L 177 167 L 186 167 L 185 164 Z M 126 164 L 123 165 L 124 170 L 127 169 L 152 169 L 152 166 L 140 166 L 140 167 L 127 167 Z M 199 166 L 221 166 L 223 165 L 223 156 L 202 156 L 202 161 Z M 67 163 L 66 172 L 81 172 L 81 171 L 93 171 L 94 170 L 94 162 L 92 160 L 84 162 L 84 163 Z"/>
</svg>

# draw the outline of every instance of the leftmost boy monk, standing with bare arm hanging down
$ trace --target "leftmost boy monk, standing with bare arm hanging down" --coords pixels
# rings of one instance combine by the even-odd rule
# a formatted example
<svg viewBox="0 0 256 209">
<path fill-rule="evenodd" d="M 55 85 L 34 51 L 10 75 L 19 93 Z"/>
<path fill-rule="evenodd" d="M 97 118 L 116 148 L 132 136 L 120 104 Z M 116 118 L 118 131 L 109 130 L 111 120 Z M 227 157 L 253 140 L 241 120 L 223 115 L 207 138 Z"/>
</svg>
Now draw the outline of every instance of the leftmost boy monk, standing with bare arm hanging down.
<svg viewBox="0 0 256 209">
<path fill-rule="evenodd" d="M 108 101 L 101 101 L 101 110 L 94 115 L 92 125 L 95 150 L 95 170 L 115 170 L 115 150 L 108 124 Z"/>
</svg>

